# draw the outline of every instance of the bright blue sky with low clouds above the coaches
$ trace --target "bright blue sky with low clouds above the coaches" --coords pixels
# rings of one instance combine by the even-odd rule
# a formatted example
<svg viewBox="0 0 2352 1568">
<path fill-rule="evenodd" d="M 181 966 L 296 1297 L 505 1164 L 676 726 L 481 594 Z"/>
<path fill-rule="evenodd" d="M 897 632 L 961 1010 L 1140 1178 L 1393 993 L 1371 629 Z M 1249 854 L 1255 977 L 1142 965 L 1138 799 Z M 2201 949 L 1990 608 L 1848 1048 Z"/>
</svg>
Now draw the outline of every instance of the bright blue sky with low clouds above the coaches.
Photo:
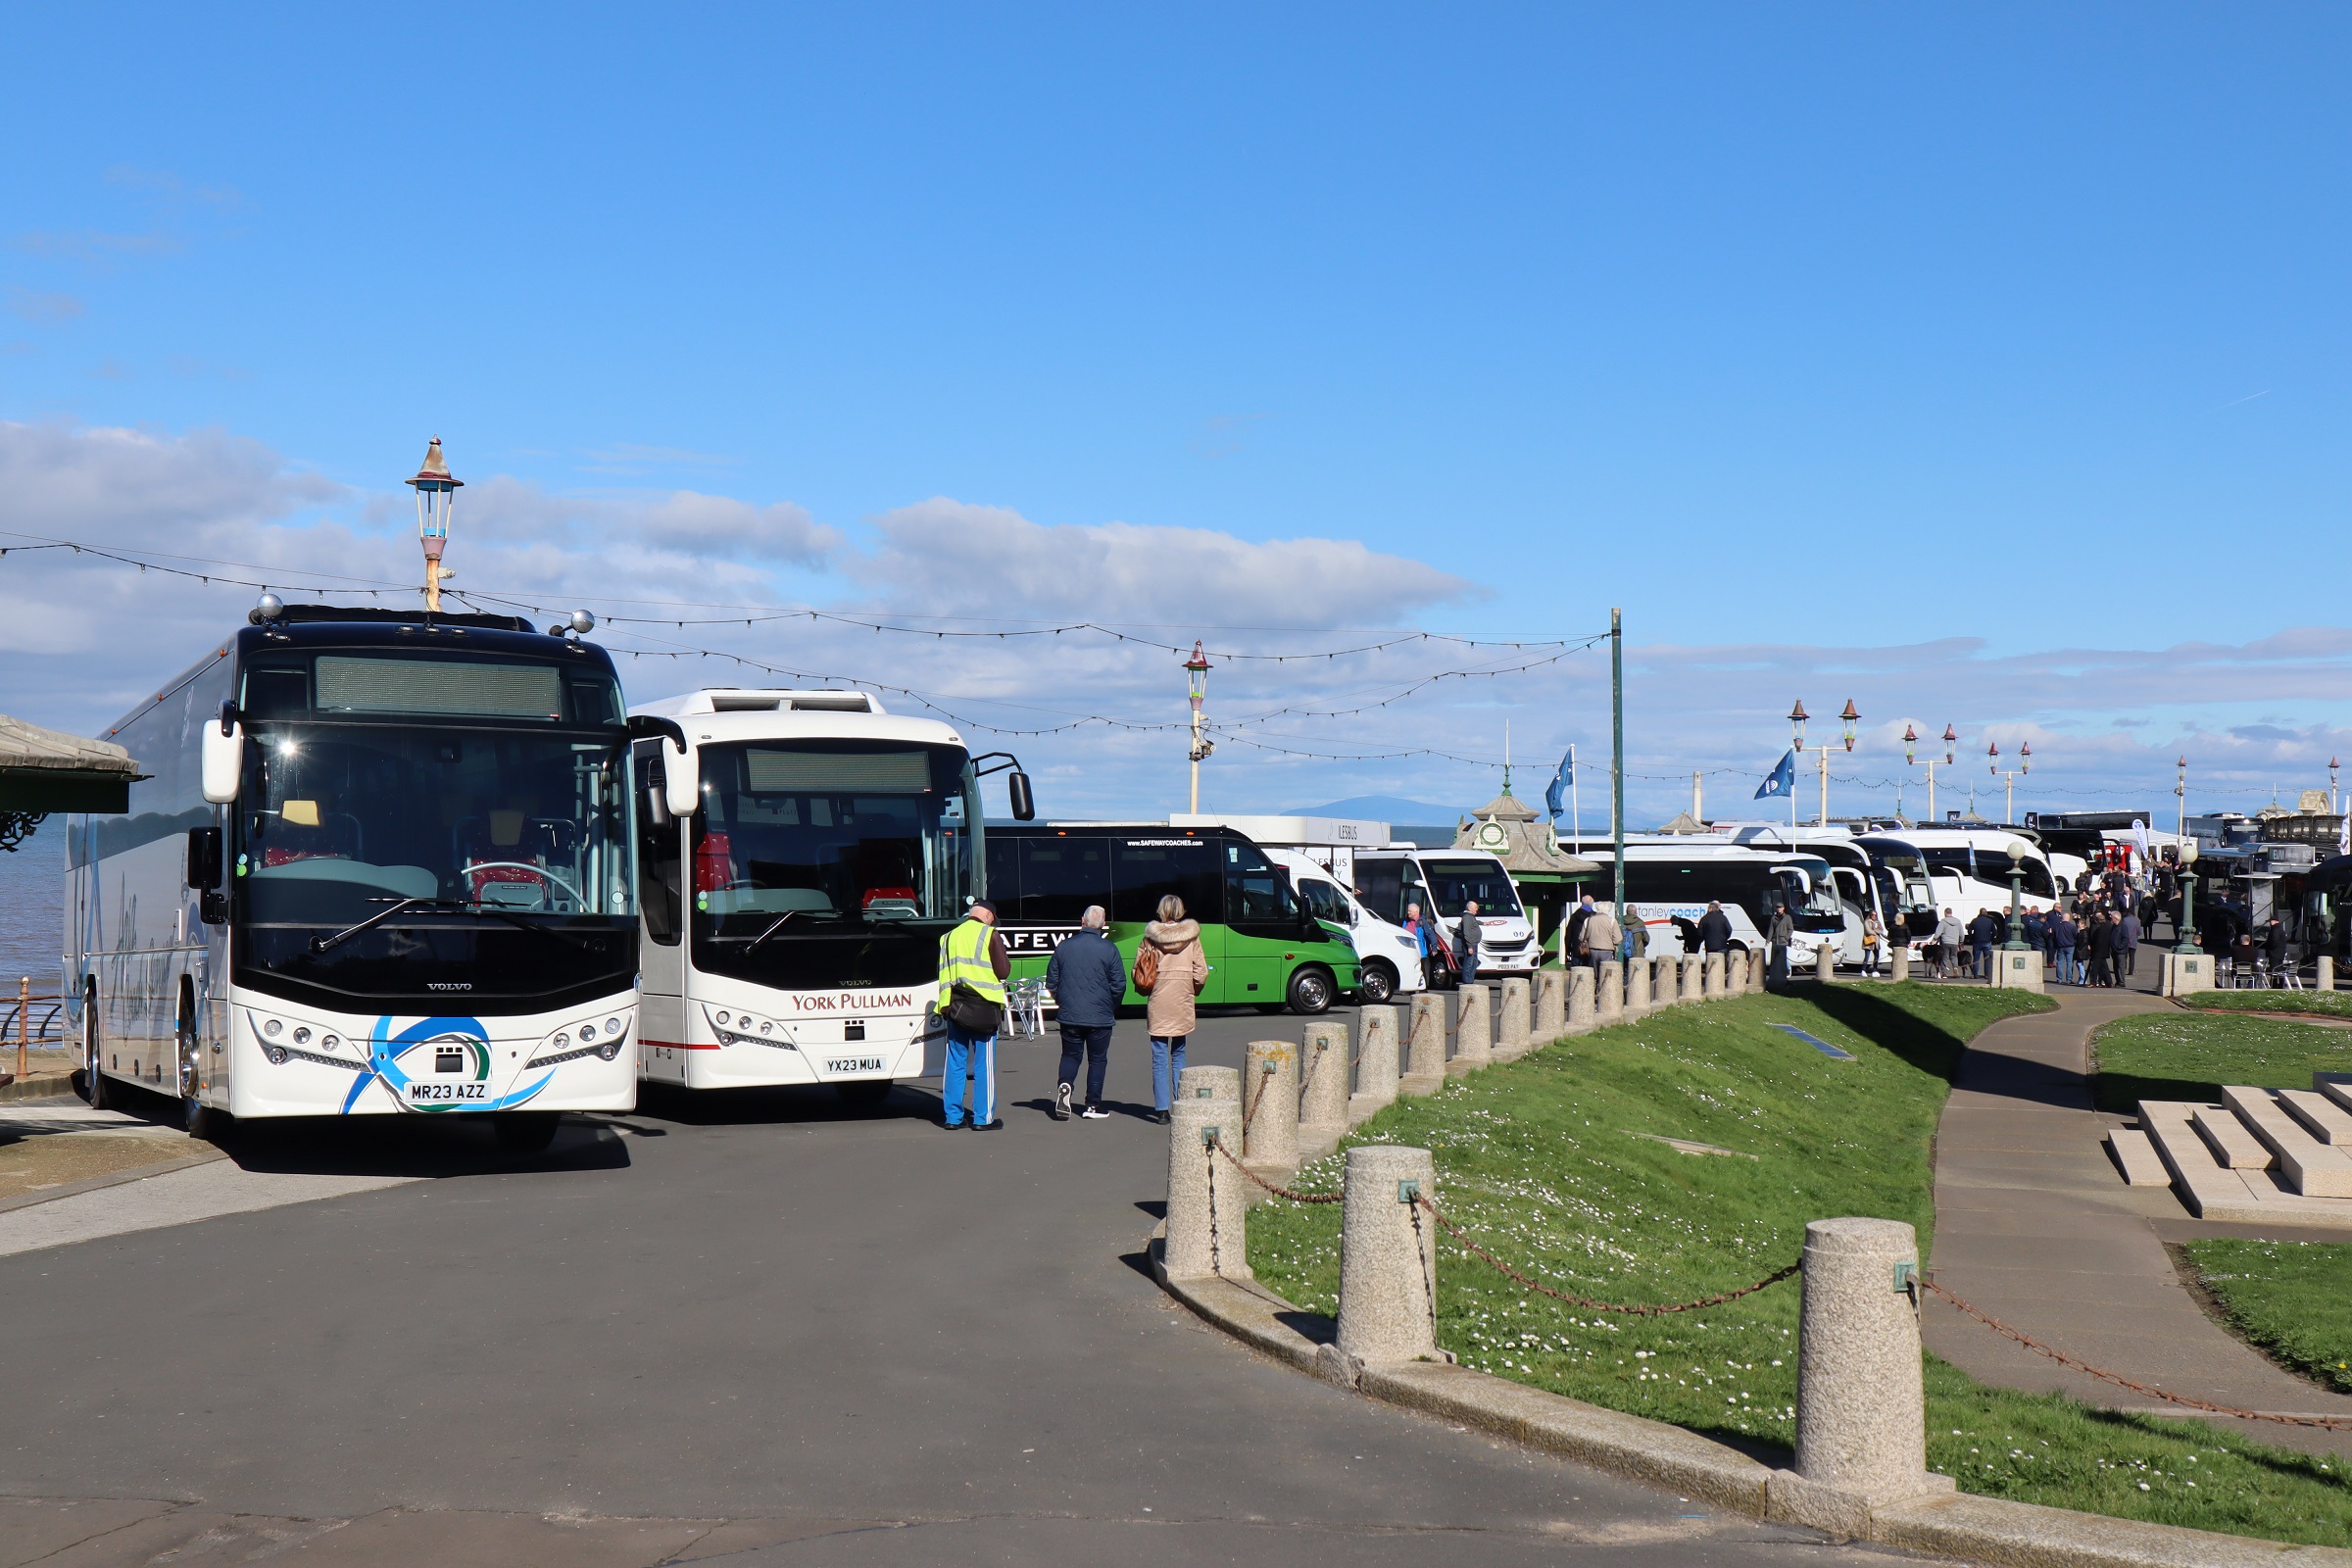
<svg viewBox="0 0 2352 1568">
<path fill-rule="evenodd" d="M 2037 736 L 2079 804 L 2169 797 L 2183 748 L 2267 799 L 2352 738 L 2352 635 L 2265 642 L 2345 625 L 2347 33 L 2296 5 L 21 14 L 0 527 L 412 552 L 393 491 L 440 433 L 496 482 L 452 559 L 503 588 L 1512 635 L 1623 604 L 1658 776 L 1762 773 L 1790 698 L 1860 693 L 1896 733 Z M 946 536 L 1025 567 L 948 571 Z M 1065 581 L 1070 548 L 1098 569 Z M 103 724 L 205 637 L 19 625 L 0 689 Z M 1157 665 L 858 658 L 1181 708 Z M 1588 663 L 1512 682 L 1287 733 L 1602 748 Z M 1164 741 L 1040 745 L 1070 799 L 1167 804 Z M 1886 736 L 1865 759 L 1900 771 Z M 1237 806 L 1491 792 L 1251 766 Z"/>
</svg>

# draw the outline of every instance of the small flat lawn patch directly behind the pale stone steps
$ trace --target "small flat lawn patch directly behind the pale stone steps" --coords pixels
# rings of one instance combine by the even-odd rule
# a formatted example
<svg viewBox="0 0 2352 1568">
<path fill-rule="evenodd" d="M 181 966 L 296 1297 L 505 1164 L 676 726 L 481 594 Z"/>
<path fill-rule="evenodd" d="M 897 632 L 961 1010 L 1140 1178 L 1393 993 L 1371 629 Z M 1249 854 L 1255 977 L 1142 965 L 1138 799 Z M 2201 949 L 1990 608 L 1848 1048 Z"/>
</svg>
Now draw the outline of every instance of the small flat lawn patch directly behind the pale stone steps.
<svg viewBox="0 0 2352 1568">
<path fill-rule="evenodd" d="M 2352 1072 L 2352 1030 L 2230 1013 L 2140 1013 L 2091 1037 L 2100 1110 L 2140 1100 L 2220 1098 L 2223 1084 L 2310 1088 L 2312 1072 Z"/>
</svg>

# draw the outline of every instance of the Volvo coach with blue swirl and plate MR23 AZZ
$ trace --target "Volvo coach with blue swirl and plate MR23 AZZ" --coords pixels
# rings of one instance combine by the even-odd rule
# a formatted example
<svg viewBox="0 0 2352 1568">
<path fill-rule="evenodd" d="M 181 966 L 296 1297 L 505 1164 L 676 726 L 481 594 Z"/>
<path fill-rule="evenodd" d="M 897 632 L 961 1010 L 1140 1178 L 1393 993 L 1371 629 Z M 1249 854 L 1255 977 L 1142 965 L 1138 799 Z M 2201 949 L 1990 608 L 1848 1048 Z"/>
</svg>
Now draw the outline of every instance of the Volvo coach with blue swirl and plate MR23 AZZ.
<svg viewBox="0 0 2352 1568">
<path fill-rule="evenodd" d="M 593 625 L 593 623 L 590 623 Z M 513 616 L 266 597 L 106 731 L 68 818 L 87 1093 L 230 1117 L 635 1105 L 628 724 L 612 658 Z"/>
</svg>

